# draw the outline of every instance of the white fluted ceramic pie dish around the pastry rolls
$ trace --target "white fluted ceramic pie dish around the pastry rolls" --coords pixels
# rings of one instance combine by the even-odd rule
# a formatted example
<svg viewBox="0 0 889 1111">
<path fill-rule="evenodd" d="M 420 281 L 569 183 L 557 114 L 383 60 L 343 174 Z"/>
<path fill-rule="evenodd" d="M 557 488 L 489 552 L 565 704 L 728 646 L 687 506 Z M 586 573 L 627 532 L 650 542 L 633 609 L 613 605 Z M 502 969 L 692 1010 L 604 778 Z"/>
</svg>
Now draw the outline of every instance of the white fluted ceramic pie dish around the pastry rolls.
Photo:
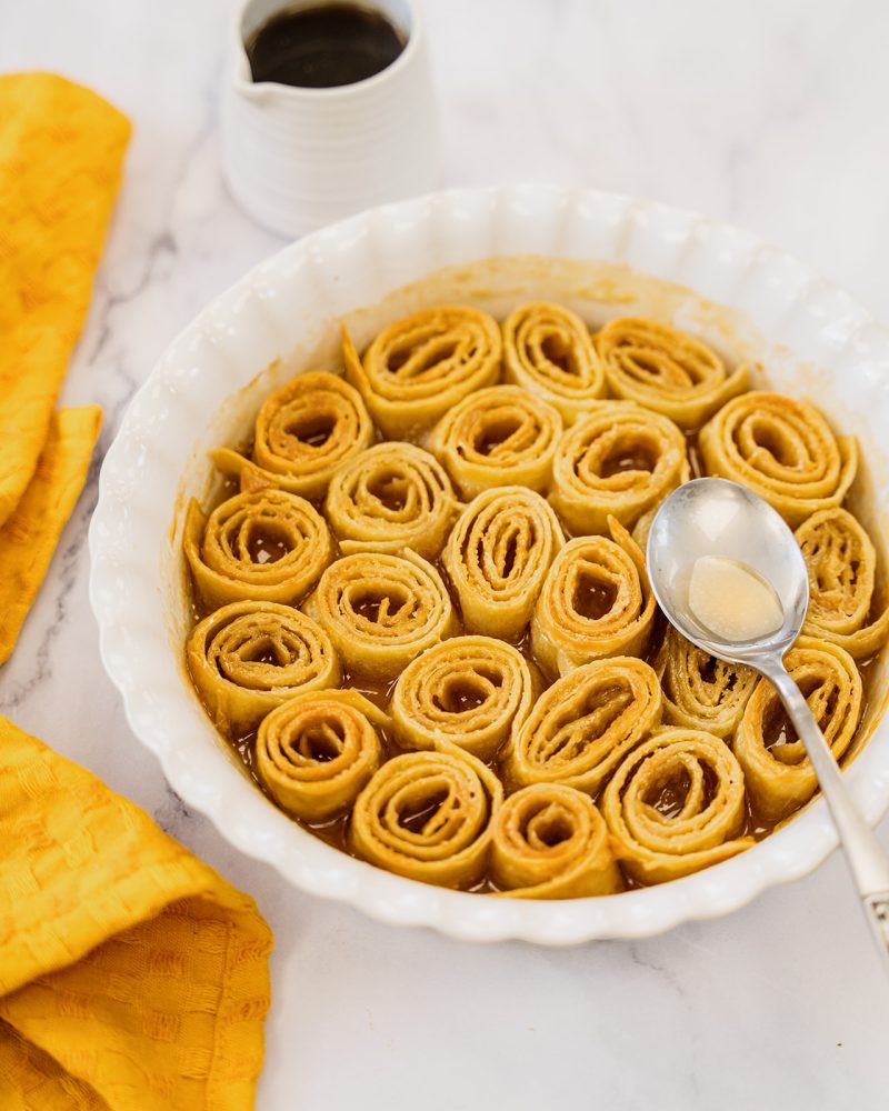
<svg viewBox="0 0 889 1111">
<path fill-rule="evenodd" d="M 90 597 L 102 661 L 130 725 L 174 790 L 243 852 L 297 887 L 373 918 L 466 940 L 565 944 L 658 933 L 726 914 L 798 879 L 836 847 L 818 800 L 747 852 L 659 887 L 562 902 L 483 899 L 389 874 L 290 821 L 256 789 L 188 680 L 181 507 L 212 482 L 210 447 L 243 437 L 259 401 L 337 364 L 339 322 L 359 342 L 418 308 L 460 301 L 497 316 L 547 298 L 588 320 L 645 311 L 761 361 L 867 461 L 872 536 L 889 519 L 889 331 L 803 263 L 756 237 L 627 198 L 532 186 L 459 190 L 376 209 L 294 243 L 210 304 L 132 401 L 100 480 Z M 889 804 L 886 653 L 847 779 L 876 822 Z"/>
</svg>

